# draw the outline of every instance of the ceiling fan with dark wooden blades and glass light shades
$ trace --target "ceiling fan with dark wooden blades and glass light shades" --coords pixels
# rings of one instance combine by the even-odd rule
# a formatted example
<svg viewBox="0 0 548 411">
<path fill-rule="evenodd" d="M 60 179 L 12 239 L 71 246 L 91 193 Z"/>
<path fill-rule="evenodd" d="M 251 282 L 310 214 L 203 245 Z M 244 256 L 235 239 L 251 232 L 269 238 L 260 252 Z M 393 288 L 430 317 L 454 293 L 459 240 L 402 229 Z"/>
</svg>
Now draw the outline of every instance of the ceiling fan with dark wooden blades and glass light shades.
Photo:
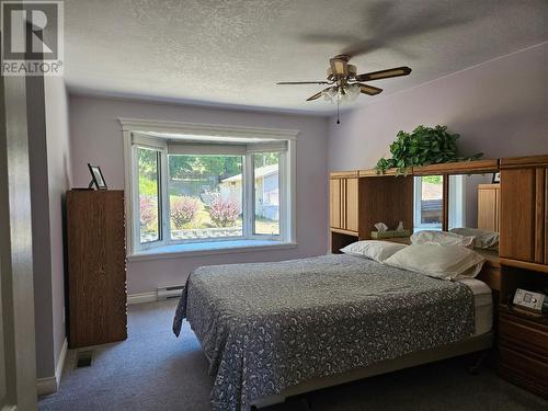
<svg viewBox="0 0 548 411">
<path fill-rule="evenodd" d="M 281 81 L 277 84 L 329 84 L 330 87 L 309 96 L 307 101 L 317 100 L 323 95 L 326 100 L 336 103 L 336 124 L 340 124 L 339 103 L 354 101 L 359 93 L 376 95 L 383 91 L 377 87 L 365 84 L 364 81 L 408 76 L 411 72 L 409 67 L 402 66 L 357 75 L 356 66 L 349 65 L 350 58 L 351 56 L 347 54 L 330 58 L 327 81 Z"/>
</svg>

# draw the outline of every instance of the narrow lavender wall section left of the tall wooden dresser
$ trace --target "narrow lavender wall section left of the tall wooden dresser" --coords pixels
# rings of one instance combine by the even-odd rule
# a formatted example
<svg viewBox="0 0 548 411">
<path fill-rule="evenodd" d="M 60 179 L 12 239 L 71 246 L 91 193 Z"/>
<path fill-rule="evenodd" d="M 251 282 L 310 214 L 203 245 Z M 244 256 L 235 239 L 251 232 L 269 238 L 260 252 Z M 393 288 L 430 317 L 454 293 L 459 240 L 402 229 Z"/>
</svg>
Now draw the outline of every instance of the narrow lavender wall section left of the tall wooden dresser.
<svg viewBox="0 0 548 411">
<path fill-rule="evenodd" d="M 30 78 L 28 141 L 36 375 L 54 377 L 65 341 L 62 202 L 70 186 L 67 92 L 61 78 Z"/>
</svg>

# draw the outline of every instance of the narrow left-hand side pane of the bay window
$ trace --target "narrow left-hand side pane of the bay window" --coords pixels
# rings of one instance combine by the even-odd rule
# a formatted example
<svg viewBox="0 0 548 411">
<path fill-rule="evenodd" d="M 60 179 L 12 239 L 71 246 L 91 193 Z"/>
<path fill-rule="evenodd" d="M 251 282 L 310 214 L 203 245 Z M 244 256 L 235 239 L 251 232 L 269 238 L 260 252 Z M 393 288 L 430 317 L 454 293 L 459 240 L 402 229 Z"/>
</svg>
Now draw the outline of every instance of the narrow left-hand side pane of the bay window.
<svg viewBox="0 0 548 411">
<path fill-rule="evenodd" d="M 140 242 L 158 241 L 159 230 L 159 181 L 158 151 L 137 149 L 139 168 L 139 220 Z"/>
</svg>

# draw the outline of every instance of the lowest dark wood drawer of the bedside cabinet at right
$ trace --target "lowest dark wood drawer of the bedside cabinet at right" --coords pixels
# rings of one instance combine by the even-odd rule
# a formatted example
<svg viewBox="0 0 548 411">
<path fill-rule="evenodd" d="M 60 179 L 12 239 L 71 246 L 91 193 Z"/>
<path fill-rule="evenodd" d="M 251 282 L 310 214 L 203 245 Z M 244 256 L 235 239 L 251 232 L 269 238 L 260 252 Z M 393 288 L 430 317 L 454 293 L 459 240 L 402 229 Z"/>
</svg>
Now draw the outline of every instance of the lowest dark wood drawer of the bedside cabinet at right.
<svg viewBox="0 0 548 411">
<path fill-rule="evenodd" d="M 548 397 L 548 358 L 525 351 L 515 351 L 501 342 L 499 374 L 544 398 Z"/>
</svg>

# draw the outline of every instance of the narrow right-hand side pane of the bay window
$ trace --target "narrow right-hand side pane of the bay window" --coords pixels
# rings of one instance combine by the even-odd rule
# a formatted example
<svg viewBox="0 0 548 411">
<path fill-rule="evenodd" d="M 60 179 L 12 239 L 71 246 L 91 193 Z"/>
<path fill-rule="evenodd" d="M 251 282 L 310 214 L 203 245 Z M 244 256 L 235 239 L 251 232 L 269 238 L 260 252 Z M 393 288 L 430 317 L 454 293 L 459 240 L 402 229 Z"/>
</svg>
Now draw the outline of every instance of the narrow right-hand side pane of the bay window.
<svg viewBox="0 0 548 411">
<path fill-rule="evenodd" d="M 279 235 L 279 152 L 253 155 L 255 235 Z"/>
</svg>

